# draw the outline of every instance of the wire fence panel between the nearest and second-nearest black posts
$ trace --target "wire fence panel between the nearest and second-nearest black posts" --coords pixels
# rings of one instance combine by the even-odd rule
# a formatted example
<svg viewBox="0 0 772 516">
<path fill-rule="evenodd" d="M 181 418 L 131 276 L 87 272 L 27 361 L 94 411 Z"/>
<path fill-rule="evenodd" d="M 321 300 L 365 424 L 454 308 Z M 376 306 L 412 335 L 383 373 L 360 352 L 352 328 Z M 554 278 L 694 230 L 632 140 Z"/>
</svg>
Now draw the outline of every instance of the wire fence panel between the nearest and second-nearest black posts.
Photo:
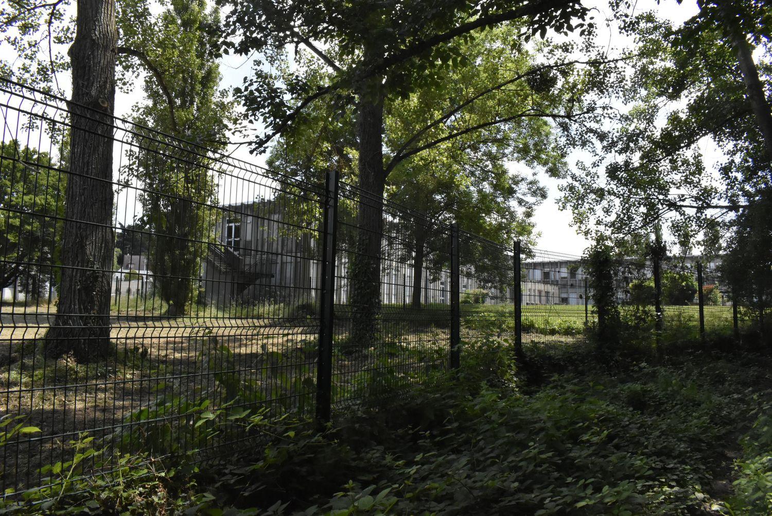
<svg viewBox="0 0 772 516">
<path fill-rule="evenodd" d="M 340 409 L 447 369 L 449 228 L 341 184 L 337 231 L 332 388 Z"/>
</svg>

